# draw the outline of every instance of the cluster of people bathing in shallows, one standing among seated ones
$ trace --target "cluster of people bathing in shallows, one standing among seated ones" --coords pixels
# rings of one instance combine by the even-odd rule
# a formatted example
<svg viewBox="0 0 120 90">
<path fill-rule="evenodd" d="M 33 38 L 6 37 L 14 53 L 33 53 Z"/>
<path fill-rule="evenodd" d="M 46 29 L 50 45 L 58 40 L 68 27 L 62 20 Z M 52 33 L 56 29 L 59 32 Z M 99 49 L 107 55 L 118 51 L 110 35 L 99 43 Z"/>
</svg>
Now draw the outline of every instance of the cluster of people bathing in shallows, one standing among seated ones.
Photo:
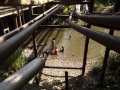
<svg viewBox="0 0 120 90">
<path fill-rule="evenodd" d="M 58 50 L 58 48 L 55 46 L 55 38 L 52 38 L 52 40 L 51 40 L 51 48 L 50 48 L 50 50 L 46 49 L 46 51 L 43 52 L 43 57 L 44 57 L 44 54 L 46 54 L 47 56 L 49 54 L 58 55 L 58 52 L 64 52 L 64 47 L 62 46 L 61 49 Z"/>
</svg>

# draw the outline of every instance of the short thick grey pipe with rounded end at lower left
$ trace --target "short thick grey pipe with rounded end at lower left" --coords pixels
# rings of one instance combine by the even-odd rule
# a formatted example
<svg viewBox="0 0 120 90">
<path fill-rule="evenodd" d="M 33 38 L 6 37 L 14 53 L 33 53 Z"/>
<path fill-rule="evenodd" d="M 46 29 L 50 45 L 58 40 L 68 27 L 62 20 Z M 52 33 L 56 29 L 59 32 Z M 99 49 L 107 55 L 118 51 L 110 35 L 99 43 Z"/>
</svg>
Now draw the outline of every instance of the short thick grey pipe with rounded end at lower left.
<svg viewBox="0 0 120 90">
<path fill-rule="evenodd" d="M 0 83 L 0 90 L 21 90 L 39 71 L 43 69 L 45 61 L 36 58 L 13 75 Z"/>
</svg>

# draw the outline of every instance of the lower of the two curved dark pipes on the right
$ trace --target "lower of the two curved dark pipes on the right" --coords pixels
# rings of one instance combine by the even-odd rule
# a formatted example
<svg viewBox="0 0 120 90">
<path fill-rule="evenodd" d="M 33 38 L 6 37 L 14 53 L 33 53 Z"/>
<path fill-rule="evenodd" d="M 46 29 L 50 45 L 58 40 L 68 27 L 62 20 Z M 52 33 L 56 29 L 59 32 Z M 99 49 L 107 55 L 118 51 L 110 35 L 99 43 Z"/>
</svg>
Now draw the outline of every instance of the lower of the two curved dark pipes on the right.
<svg viewBox="0 0 120 90">
<path fill-rule="evenodd" d="M 120 38 L 117 36 L 112 36 L 100 31 L 95 31 L 86 27 L 79 26 L 72 22 L 72 15 L 74 11 L 71 13 L 68 23 L 74 28 L 76 31 L 82 33 L 83 35 L 95 40 L 96 42 L 120 53 Z"/>
</svg>

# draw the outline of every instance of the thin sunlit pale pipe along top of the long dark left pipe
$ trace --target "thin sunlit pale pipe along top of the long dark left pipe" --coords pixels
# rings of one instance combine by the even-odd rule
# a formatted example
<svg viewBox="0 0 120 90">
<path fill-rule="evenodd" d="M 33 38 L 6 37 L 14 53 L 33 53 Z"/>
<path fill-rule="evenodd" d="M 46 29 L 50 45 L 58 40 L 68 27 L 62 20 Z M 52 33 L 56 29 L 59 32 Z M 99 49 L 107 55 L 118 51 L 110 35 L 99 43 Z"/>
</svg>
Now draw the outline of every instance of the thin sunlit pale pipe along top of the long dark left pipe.
<svg viewBox="0 0 120 90">
<path fill-rule="evenodd" d="M 29 21 L 28 23 L 24 24 L 23 26 L 11 31 L 10 33 L 7 33 L 3 36 L 0 37 L 0 44 L 3 43 L 4 41 L 6 41 L 7 39 L 9 39 L 10 37 L 12 37 L 13 35 L 17 34 L 18 32 L 20 32 L 21 30 L 27 28 L 28 26 L 30 26 L 31 24 L 35 23 L 37 20 L 39 20 L 40 18 L 42 18 L 44 15 L 48 14 L 49 12 L 51 12 L 53 9 L 55 9 L 56 7 L 58 7 L 58 5 L 55 5 L 54 7 L 50 8 L 49 10 L 47 10 L 46 12 L 40 14 L 38 17 L 34 18 L 33 20 Z"/>
</svg>

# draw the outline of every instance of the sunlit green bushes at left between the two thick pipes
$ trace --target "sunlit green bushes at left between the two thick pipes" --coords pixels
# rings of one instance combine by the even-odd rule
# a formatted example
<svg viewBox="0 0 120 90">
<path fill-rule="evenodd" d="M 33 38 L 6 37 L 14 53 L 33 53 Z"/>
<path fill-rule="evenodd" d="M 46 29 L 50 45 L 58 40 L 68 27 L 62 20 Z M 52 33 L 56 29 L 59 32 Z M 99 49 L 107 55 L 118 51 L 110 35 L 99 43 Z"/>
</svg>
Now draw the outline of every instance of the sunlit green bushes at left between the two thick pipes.
<svg viewBox="0 0 120 90">
<path fill-rule="evenodd" d="M 1 77 L 7 78 L 27 63 L 26 58 L 21 53 L 22 50 L 19 48 L 2 64 L 1 69 L 4 72 L 0 75 Z"/>
</svg>

